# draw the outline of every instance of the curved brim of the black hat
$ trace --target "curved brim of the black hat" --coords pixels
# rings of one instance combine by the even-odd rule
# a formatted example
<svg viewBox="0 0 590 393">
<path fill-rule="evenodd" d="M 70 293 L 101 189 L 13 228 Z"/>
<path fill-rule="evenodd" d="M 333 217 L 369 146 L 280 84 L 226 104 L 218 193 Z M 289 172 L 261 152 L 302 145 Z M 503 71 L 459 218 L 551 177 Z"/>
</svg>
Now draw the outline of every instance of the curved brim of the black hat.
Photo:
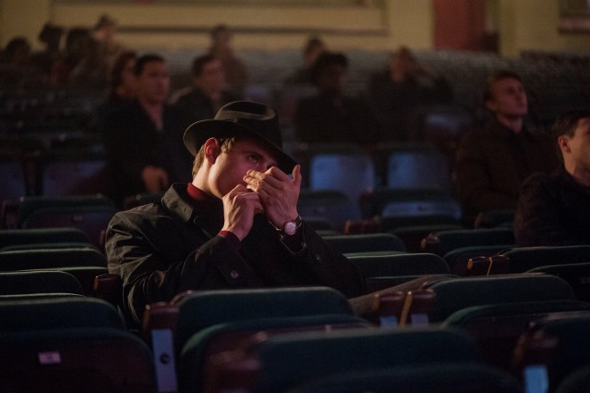
<svg viewBox="0 0 590 393">
<path fill-rule="evenodd" d="M 184 146 L 190 151 L 190 154 L 197 156 L 203 143 L 209 138 L 220 138 L 230 136 L 246 136 L 261 141 L 267 148 L 275 153 L 277 167 L 287 175 L 293 172 L 297 161 L 289 156 L 281 147 L 271 140 L 265 138 L 255 131 L 255 129 L 243 126 L 230 120 L 206 119 L 199 120 L 191 124 L 184 131 Z"/>
</svg>

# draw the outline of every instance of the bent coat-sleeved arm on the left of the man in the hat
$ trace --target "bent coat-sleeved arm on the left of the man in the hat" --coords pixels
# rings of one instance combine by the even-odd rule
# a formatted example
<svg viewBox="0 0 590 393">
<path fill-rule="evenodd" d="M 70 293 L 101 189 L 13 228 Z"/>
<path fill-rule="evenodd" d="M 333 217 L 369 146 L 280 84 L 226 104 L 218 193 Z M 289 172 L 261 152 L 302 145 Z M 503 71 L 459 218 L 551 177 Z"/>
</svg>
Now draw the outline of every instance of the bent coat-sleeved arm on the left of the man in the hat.
<svg viewBox="0 0 590 393">
<path fill-rule="evenodd" d="M 150 220 L 136 222 L 125 212 L 117 213 L 105 248 L 109 272 L 123 279 L 125 313 L 141 323 L 146 305 L 169 301 L 182 291 L 252 285 L 251 268 L 229 237 L 208 239 L 198 231 L 186 234 L 177 225 L 163 229 Z M 189 242 L 194 243 L 192 252 Z"/>
</svg>

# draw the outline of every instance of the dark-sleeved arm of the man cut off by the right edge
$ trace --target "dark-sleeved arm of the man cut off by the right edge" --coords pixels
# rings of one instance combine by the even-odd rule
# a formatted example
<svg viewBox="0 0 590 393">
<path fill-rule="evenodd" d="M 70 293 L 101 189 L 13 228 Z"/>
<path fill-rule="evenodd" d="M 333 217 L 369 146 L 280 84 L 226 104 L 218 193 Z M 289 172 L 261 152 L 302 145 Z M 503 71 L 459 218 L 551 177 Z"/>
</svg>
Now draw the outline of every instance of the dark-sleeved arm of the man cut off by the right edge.
<svg viewBox="0 0 590 393">
<path fill-rule="evenodd" d="M 547 186 L 544 174 L 529 176 L 522 184 L 514 214 L 514 238 L 520 246 L 572 244 L 564 220 L 562 201 Z"/>
</svg>

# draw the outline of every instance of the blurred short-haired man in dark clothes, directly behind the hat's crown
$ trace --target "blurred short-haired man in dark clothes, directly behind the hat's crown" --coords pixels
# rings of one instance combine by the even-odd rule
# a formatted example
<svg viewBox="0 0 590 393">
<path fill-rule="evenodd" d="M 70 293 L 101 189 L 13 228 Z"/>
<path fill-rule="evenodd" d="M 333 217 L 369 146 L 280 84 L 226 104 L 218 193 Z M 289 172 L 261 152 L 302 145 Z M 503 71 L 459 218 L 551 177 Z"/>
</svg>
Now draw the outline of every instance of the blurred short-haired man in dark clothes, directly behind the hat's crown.
<svg viewBox="0 0 590 393">
<path fill-rule="evenodd" d="M 195 58 L 191 73 L 193 85 L 174 94 L 171 100 L 185 127 L 198 120 L 213 119 L 223 105 L 241 98 L 225 90 L 222 62 L 211 54 Z"/>
</svg>

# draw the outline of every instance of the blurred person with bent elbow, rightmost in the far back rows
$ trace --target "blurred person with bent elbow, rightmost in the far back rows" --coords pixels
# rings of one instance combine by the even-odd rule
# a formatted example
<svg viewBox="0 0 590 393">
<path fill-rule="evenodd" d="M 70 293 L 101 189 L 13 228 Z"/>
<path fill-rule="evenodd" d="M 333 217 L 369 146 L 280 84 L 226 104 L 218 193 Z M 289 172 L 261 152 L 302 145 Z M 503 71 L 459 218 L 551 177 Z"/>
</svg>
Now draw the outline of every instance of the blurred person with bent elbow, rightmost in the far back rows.
<svg viewBox="0 0 590 393">
<path fill-rule="evenodd" d="M 390 54 L 384 71 L 369 78 L 371 105 L 388 141 L 407 141 L 416 131 L 417 110 L 432 103 L 450 102 L 452 92 L 442 75 L 428 70 L 408 47 Z"/>
</svg>

